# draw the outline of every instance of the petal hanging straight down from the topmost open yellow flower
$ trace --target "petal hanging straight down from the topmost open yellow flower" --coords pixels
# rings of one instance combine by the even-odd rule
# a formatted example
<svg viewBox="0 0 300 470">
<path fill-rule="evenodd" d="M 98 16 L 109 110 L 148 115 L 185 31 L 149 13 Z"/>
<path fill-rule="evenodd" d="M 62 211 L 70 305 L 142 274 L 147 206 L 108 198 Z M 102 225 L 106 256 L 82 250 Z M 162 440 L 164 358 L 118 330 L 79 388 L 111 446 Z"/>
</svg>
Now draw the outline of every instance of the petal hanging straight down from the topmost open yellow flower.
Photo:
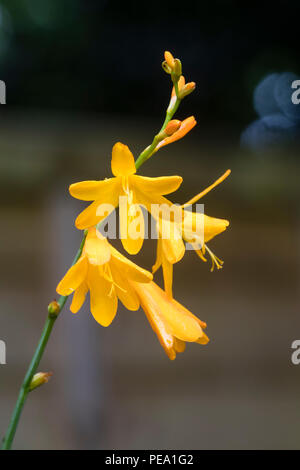
<svg viewBox="0 0 300 470">
<path fill-rule="evenodd" d="M 136 255 L 142 248 L 145 235 L 145 222 L 138 204 L 122 204 L 120 208 L 120 235 L 124 249 Z"/>
</svg>

